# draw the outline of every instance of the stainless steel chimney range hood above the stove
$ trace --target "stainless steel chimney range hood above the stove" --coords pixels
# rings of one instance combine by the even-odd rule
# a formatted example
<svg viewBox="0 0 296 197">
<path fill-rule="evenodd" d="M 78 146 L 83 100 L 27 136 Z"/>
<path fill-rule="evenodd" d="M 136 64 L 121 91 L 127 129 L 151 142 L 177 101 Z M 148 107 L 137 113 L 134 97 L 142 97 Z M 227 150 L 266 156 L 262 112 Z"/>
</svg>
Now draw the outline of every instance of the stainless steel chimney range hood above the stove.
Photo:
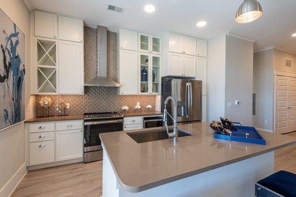
<svg viewBox="0 0 296 197">
<path fill-rule="evenodd" d="M 84 83 L 84 86 L 121 87 L 119 83 L 107 78 L 107 28 L 99 25 L 97 26 L 97 50 L 98 76 Z"/>
</svg>

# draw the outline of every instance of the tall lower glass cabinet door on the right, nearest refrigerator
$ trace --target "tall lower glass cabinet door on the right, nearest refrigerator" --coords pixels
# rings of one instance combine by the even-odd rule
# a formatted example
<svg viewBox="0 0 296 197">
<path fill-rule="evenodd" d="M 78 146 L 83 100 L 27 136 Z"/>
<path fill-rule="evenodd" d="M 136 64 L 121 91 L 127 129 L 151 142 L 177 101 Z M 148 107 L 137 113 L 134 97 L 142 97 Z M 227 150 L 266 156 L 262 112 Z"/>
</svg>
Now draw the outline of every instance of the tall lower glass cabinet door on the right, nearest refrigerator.
<svg viewBox="0 0 296 197">
<path fill-rule="evenodd" d="M 160 94 L 160 55 L 151 55 L 151 94 Z"/>
</svg>

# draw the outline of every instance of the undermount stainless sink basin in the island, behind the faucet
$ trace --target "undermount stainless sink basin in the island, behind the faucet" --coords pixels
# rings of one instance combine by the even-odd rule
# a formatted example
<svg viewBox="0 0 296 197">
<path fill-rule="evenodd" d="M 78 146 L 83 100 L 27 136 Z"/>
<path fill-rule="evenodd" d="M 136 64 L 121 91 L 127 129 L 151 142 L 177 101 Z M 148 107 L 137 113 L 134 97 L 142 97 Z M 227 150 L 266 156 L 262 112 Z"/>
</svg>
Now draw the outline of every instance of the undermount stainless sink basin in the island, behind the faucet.
<svg viewBox="0 0 296 197">
<path fill-rule="evenodd" d="M 173 130 L 169 130 L 169 131 L 173 132 Z M 126 133 L 126 134 L 128 134 L 137 143 L 144 143 L 144 142 L 169 139 L 167 131 L 165 129 L 160 130 L 160 131 L 130 132 L 130 133 Z M 185 133 L 184 131 L 180 131 L 180 130 L 178 131 L 178 137 L 185 137 L 185 136 L 190 136 L 190 135 L 191 134 Z"/>
</svg>

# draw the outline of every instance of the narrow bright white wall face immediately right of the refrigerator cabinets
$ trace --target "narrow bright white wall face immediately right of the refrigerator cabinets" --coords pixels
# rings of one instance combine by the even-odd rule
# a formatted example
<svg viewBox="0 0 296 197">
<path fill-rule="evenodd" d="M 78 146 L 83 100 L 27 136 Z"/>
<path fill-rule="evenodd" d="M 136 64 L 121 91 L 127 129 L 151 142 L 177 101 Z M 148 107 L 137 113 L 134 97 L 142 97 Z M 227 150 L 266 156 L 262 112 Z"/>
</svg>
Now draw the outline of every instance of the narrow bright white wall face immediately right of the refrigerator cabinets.
<svg viewBox="0 0 296 197">
<path fill-rule="evenodd" d="M 208 40 L 207 120 L 224 117 L 225 100 L 225 33 Z"/>
</svg>

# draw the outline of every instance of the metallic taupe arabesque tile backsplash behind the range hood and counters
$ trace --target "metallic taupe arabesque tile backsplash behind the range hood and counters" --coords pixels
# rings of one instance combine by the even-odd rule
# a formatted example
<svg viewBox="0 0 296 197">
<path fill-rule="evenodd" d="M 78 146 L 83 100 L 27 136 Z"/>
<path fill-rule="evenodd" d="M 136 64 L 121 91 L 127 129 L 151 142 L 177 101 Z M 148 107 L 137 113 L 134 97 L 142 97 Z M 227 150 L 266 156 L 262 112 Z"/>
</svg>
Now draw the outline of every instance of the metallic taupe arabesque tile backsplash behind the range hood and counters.
<svg viewBox="0 0 296 197">
<path fill-rule="evenodd" d="M 84 27 L 84 81 L 97 76 L 97 30 Z M 107 32 L 107 76 L 117 81 L 117 36 L 114 32 Z M 147 105 L 155 107 L 155 96 L 148 95 L 117 95 L 114 87 L 85 87 L 84 95 L 36 95 L 36 116 L 42 116 L 39 101 L 42 97 L 50 97 L 53 106 L 50 115 L 58 115 L 56 105 L 59 102 L 70 103 L 67 114 L 83 114 L 91 112 L 120 112 L 126 105 L 133 111 L 140 102 L 142 111 Z"/>
</svg>

